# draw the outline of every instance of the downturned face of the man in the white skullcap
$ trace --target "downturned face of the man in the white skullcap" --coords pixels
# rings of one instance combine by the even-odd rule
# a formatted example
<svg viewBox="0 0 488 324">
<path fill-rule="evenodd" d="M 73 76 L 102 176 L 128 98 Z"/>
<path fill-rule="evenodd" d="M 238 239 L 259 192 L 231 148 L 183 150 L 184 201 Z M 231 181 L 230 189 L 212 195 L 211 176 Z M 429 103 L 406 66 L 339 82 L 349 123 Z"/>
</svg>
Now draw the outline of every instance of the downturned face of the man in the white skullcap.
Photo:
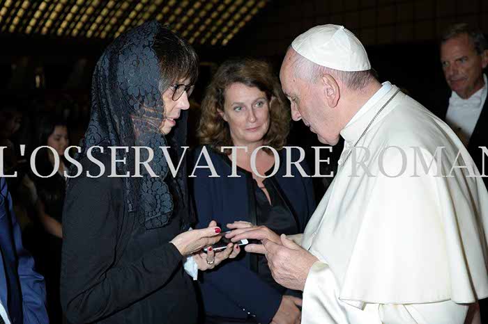
<svg viewBox="0 0 488 324">
<path fill-rule="evenodd" d="M 302 120 L 310 131 L 317 134 L 323 144 L 336 145 L 340 138 L 340 125 L 328 106 L 319 81 L 300 79 L 293 71 L 293 59 L 285 56 L 280 71 L 284 94 L 291 103 L 291 118 Z"/>
</svg>

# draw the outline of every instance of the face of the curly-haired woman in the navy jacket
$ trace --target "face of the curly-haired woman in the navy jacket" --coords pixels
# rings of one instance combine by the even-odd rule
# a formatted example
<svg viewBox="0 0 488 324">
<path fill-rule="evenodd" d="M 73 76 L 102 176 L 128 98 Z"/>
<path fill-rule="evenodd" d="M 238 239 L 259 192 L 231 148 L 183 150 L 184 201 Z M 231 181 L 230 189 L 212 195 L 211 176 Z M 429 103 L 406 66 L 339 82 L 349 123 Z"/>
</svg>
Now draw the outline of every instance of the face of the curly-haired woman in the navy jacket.
<svg viewBox="0 0 488 324">
<path fill-rule="evenodd" d="M 266 93 L 243 83 L 232 83 L 224 92 L 224 111 L 234 145 L 250 145 L 263 140 L 269 129 L 269 102 Z"/>
</svg>

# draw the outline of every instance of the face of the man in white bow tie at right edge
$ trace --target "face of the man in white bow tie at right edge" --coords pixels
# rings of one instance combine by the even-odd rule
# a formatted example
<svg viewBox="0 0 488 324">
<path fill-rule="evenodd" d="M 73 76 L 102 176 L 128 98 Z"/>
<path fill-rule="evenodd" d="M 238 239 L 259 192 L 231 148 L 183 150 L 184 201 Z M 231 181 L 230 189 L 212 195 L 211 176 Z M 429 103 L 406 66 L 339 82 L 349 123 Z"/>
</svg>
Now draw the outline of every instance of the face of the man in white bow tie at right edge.
<svg viewBox="0 0 488 324">
<path fill-rule="evenodd" d="M 478 54 L 467 34 L 441 44 L 441 63 L 445 81 L 459 97 L 468 99 L 482 88 L 482 70 L 487 66 L 487 54 Z"/>
</svg>

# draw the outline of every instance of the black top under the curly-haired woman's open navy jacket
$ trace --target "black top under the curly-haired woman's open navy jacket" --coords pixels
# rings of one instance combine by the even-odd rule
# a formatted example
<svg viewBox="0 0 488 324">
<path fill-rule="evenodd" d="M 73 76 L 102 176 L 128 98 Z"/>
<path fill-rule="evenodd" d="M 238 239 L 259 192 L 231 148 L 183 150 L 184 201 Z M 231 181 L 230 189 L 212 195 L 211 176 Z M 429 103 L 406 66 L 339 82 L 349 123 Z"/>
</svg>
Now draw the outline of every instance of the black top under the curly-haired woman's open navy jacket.
<svg viewBox="0 0 488 324">
<path fill-rule="evenodd" d="M 273 169 L 273 168 L 271 168 Z M 271 229 L 275 233 L 280 234 L 296 234 L 299 233 L 298 224 L 291 213 L 291 210 L 287 206 L 287 203 L 283 200 L 282 196 L 278 192 L 277 184 L 273 185 L 269 179 L 264 179 L 263 185 L 268 191 L 270 201 L 264 193 L 263 189 L 259 188 L 257 181 L 253 181 L 254 184 L 254 199 L 256 202 L 256 225 L 264 225 Z M 274 289 L 284 294 L 287 289 L 281 286 L 273 279 L 271 270 L 268 266 L 268 260 L 264 255 L 257 254 L 257 274 L 259 277 L 267 282 Z"/>
</svg>

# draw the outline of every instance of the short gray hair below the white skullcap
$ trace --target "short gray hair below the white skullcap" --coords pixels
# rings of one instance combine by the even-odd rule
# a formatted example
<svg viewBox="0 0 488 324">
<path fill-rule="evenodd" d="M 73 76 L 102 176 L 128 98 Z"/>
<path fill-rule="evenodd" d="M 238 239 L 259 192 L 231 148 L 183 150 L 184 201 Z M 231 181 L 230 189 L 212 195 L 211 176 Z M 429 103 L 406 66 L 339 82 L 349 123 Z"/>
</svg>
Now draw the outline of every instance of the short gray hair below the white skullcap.
<svg viewBox="0 0 488 324">
<path fill-rule="evenodd" d="M 315 64 L 298 53 L 295 53 L 295 55 L 296 58 L 293 63 L 295 65 L 295 76 L 313 83 L 317 82 L 323 74 L 330 74 L 334 79 L 344 83 L 347 88 L 360 90 L 365 88 L 367 83 L 376 79 L 372 70 L 354 72 L 340 71 Z"/>
</svg>

